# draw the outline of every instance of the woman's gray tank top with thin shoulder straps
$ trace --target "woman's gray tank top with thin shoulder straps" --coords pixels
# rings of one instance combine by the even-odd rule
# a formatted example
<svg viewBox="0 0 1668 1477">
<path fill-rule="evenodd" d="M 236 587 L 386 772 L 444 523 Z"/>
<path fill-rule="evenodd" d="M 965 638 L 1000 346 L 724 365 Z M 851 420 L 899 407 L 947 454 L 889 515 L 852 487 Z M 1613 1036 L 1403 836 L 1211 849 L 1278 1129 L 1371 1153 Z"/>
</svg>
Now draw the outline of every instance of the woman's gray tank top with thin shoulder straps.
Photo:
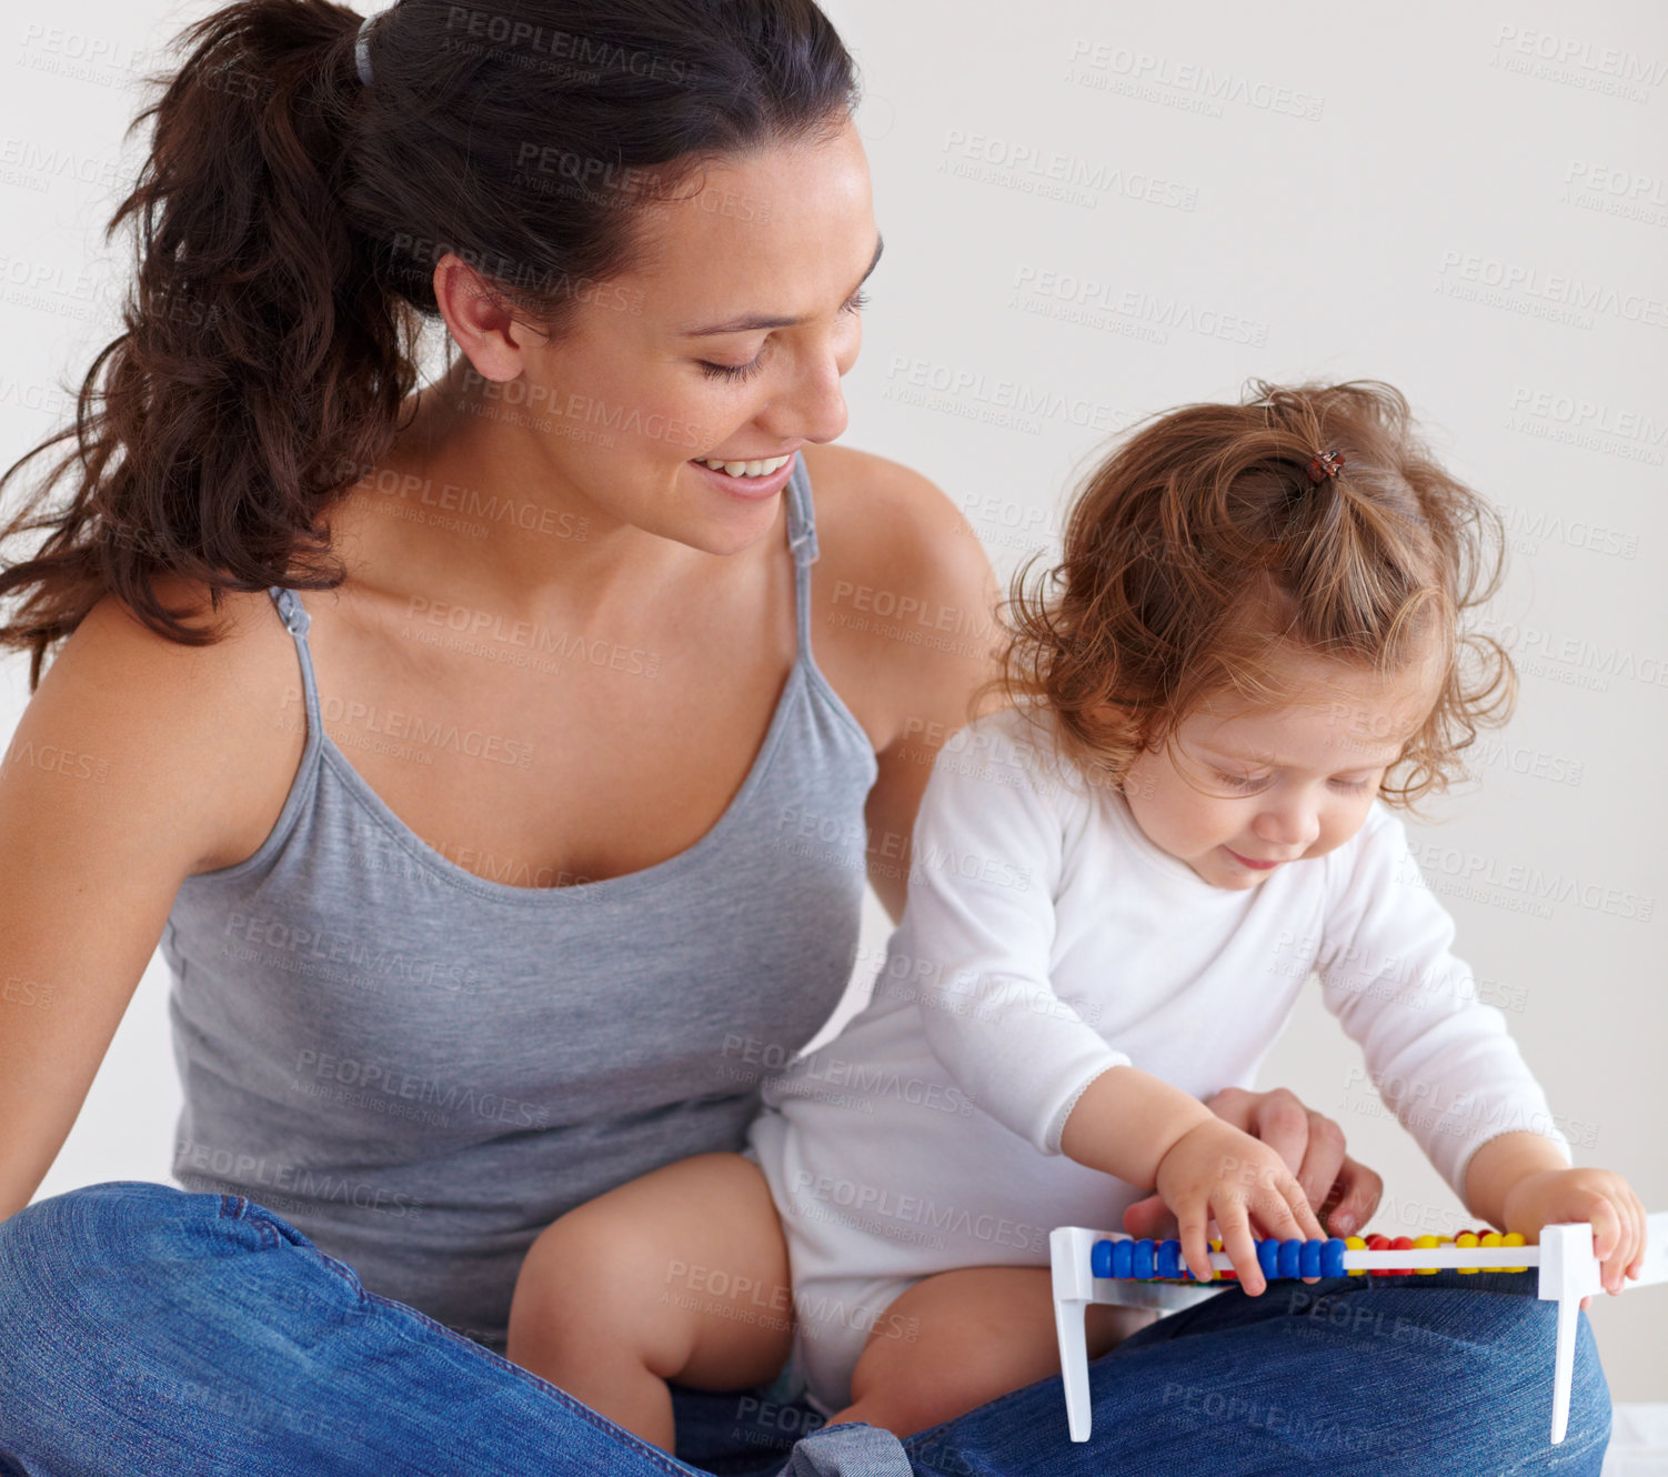
<svg viewBox="0 0 1668 1477">
<path fill-rule="evenodd" d="M 857 948 L 876 758 L 811 656 L 817 557 L 787 484 L 799 653 L 746 781 L 687 851 L 527 888 L 449 861 L 325 734 L 254 856 L 190 876 L 162 936 L 185 1106 L 173 1175 L 245 1195 L 372 1292 L 502 1352 L 534 1237 L 636 1175 L 739 1150 L 759 1083 Z"/>
</svg>

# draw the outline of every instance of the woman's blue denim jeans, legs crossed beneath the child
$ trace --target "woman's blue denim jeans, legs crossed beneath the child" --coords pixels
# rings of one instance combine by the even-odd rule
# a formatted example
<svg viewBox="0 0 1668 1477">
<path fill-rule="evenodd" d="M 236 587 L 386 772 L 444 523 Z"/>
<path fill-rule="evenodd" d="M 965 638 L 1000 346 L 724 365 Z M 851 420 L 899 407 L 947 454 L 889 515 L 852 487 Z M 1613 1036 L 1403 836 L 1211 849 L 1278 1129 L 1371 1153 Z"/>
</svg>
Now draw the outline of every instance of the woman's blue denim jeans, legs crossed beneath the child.
<svg viewBox="0 0 1668 1477">
<path fill-rule="evenodd" d="M 764 1390 L 674 1389 L 677 1452 L 432 1318 L 249 1200 L 115 1182 L 0 1223 L 7 1477 L 402 1474 L 1596 1474 L 1610 1390 L 1581 1318 L 1548 1445 L 1553 1303 L 1535 1273 L 1234 1287 L 1091 1369 L 899 1442 Z"/>
</svg>

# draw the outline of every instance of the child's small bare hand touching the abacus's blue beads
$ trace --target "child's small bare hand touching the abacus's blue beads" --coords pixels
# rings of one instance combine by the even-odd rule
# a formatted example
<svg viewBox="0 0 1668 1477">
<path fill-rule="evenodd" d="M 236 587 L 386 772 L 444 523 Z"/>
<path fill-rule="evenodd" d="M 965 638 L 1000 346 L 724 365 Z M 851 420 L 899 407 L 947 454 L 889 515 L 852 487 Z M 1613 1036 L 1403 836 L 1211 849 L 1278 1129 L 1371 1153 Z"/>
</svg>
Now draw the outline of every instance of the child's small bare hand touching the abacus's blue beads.
<svg viewBox="0 0 1668 1477">
<path fill-rule="evenodd" d="M 1214 1218 L 1223 1250 L 1251 1297 L 1268 1287 L 1256 1260 L 1251 1215 L 1281 1240 L 1324 1235 L 1279 1150 L 1216 1118 L 1189 1128 L 1159 1160 L 1158 1193 L 1176 1217 L 1181 1255 L 1193 1275 L 1199 1282 L 1214 1275 L 1206 1240 Z"/>
</svg>

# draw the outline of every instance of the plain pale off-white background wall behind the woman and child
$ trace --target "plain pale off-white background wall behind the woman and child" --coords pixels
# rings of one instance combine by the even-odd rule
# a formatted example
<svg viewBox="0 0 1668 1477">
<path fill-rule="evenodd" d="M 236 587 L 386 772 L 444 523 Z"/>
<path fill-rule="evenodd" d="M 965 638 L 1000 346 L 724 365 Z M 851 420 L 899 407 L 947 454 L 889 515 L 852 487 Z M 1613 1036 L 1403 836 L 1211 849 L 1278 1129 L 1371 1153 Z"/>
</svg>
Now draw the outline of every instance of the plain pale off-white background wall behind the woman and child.
<svg viewBox="0 0 1668 1477">
<path fill-rule="evenodd" d="M 62 389 L 113 332 L 130 255 L 100 234 L 140 159 L 122 142 L 137 77 L 207 8 L 37 3 L 0 30 L 5 461 L 65 424 Z M 932 477 L 1004 581 L 1054 544 L 1114 432 L 1251 376 L 1389 381 L 1501 507 L 1511 574 L 1488 619 L 1518 713 L 1413 834 L 1576 1162 L 1668 1210 L 1668 10 L 827 8 L 864 70 L 886 237 L 846 439 Z M 0 664 L 7 736 L 25 666 Z M 886 933 L 871 896 L 829 1030 Z M 168 1178 L 165 1000 L 157 958 L 40 1195 Z M 1261 1085 L 1383 1173 L 1374 1230 L 1466 1223 L 1318 991 Z M 1668 1295 L 1591 1317 L 1615 1397 L 1668 1400 Z"/>
</svg>

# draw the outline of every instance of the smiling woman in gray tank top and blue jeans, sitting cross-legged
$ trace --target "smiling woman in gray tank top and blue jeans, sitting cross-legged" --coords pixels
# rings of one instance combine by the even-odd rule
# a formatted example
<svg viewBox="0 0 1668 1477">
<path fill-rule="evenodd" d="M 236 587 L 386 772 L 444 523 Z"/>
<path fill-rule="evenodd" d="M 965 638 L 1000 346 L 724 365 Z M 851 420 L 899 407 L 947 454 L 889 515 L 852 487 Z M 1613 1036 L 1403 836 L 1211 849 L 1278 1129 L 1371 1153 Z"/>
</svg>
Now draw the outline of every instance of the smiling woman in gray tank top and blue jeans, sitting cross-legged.
<svg viewBox="0 0 1668 1477">
<path fill-rule="evenodd" d="M 849 57 L 811 0 L 402 0 L 364 33 L 245 0 L 188 35 L 82 491 L 0 576 L 38 681 L 0 776 L 37 986 L 0 1035 L 0 1462 L 692 1470 L 499 1357 L 519 1258 L 741 1145 L 844 990 L 866 873 L 896 916 L 994 646 L 942 494 L 827 446 L 879 257 Z M 410 396 L 417 315 L 460 357 Z M 185 1192 L 25 1210 L 158 936 Z M 1371 1212 L 1289 1095 L 1216 1106 Z M 1376 1470 L 1434 1439 L 1423 1390 L 1540 1359 L 1540 1305 L 1470 1282 L 1361 1293 L 1421 1332 L 1394 1343 L 1243 1297 L 1168 1318 L 1098 1365 L 1088 1447 L 1053 1380 L 794 1447 L 814 1417 L 749 1372 L 679 1392 L 679 1455 L 1266 1470 L 1291 1429 L 1218 1409 L 1249 1357 Z M 1596 1465 L 1583 1340 L 1558 1455 Z M 1341 1348 L 1406 1409 L 1336 1389 Z M 1543 1442 L 1486 1384 L 1446 1410 L 1446 1460 Z"/>
</svg>

